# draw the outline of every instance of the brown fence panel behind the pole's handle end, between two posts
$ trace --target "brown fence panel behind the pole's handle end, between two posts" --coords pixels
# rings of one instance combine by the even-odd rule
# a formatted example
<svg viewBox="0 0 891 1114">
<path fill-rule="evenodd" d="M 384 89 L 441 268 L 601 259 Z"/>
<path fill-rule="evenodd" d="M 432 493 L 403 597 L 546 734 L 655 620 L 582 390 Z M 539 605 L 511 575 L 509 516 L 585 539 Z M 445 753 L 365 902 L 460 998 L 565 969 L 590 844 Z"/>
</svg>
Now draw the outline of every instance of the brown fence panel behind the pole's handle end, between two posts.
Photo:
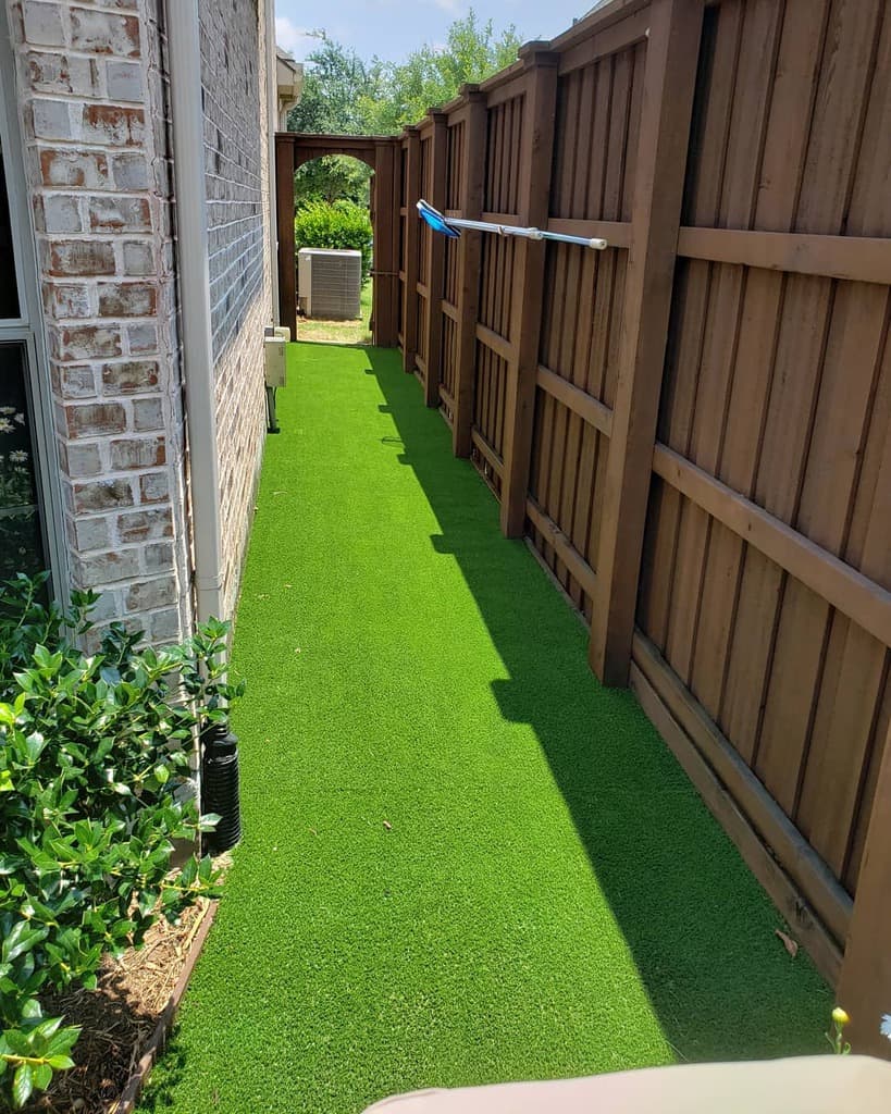
<svg viewBox="0 0 891 1114">
<path fill-rule="evenodd" d="M 575 67 L 558 80 L 551 224 L 630 218 L 646 46 L 615 42 L 613 53 L 599 55 L 590 40 L 588 59 L 577 50 Z M 546 521 L 544 529 L 530 521 L 530 536 L 589 620 L 608 434 L 591 422 L 603 409 L 580 393 L 557 397 L 554 377 L 611 409 L 626 260 L 624 247 L 595 254 L 551 244 L 546 263 L 529 492 Z"/>
</svg>

